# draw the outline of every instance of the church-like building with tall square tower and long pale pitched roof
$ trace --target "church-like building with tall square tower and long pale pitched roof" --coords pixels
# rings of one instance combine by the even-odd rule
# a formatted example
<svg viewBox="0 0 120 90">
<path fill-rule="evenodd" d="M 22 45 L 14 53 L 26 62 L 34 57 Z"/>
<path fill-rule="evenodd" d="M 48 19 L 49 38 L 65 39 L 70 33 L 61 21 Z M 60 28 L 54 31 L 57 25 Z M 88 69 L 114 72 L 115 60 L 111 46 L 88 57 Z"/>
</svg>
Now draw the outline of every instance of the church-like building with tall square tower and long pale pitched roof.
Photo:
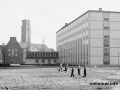
<svg viewBox="0 0 120 90">
<path fill-rule="evenodd" d="M 26 51 L 41 51 L 41 49 L 45 48 L 46 50 L 50 50 L 45 44 L 33 44 L 31 42 L 31 26 L 30 20 L 24 19 L 22 20 L 21 26 L 21 42 L 19 43 L 21 48 Z"/>
</svg>

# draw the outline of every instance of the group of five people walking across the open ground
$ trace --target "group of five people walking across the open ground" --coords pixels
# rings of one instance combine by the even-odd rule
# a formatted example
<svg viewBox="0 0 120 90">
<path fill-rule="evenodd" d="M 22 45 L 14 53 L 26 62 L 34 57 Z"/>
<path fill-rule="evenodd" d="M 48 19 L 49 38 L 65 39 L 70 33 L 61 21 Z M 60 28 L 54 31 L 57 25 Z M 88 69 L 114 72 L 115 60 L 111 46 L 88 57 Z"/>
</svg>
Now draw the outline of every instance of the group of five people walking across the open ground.
<svg viewBox="0 0 120 90">
<path fill-rule="evenodd" d="M 86 77 L 86 66 L 84 65 L 83 67 L 84 67 L 84 75 L 83 75 L 83 77 Z M 62 68 L 63 68 L 63 65 L 62 65 L 62 63 L 60 63 L 60 67 L 59 67 L 58 72 L 65 71 L 65 73 L 66 73 L 67 70 L 68 70 L 68 64 L 65 65 L 64 70 L 62 70 Z M 80 74 L 81 66 L 80 65 L 78 66 L 77 71 L 78 71 L 78 75 L 81 76 L 81 74 Z M 71 77 L 74 77 L 74 66 L 71 67 Z"/>
</svg>

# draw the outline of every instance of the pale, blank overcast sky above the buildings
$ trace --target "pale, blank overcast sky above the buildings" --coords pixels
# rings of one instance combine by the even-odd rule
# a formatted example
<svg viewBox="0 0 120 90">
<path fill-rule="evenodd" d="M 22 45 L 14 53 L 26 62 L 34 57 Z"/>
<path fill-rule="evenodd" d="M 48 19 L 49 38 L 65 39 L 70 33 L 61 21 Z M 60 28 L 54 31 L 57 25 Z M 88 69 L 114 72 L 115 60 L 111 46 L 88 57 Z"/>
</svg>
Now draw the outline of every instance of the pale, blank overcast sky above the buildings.
<svg viewBox="0 0 120 90">
<path fill-rule="evenodd" d="M 23 19 L 31 20 L 31 42 L 56 50 L 56 31 L 87 10 L 120 11 L 120 0 L 0 0 L 0 44 L 21 41 Z"/>
</svg>

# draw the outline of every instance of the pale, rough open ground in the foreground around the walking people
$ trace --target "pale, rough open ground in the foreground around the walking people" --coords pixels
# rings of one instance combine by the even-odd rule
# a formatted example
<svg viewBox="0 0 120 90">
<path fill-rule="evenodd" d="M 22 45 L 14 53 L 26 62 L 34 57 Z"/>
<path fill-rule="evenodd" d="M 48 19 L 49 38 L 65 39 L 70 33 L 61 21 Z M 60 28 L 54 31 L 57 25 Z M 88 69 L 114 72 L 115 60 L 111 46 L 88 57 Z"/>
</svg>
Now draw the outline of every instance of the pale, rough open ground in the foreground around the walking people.
<svg viewBox="0 0 120 90">
<path fill-rule="evenodd" d="M 68 72 L 58 72 L 57 67 L 0 68 L 0 90 L 119 90 L 120 70 L 113 68 L 88 68 L 87 77 Z"/>
</svg>

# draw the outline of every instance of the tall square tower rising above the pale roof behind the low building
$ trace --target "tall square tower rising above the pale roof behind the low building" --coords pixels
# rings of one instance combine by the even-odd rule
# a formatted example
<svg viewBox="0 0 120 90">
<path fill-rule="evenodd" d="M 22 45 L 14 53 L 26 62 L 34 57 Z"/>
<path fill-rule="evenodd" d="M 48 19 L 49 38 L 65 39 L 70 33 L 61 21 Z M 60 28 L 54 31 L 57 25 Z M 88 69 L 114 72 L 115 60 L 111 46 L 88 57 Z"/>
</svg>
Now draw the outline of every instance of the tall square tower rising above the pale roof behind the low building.
<svg viewBox="0 0 120 90">
<path fill-rule="evenodd" d="M 31 43 L 31 26 L 30 20 L 22 20 L 21 26 L 21 43 L 27 43 L 27 49 L 30 48 Z"/>
</svg>

